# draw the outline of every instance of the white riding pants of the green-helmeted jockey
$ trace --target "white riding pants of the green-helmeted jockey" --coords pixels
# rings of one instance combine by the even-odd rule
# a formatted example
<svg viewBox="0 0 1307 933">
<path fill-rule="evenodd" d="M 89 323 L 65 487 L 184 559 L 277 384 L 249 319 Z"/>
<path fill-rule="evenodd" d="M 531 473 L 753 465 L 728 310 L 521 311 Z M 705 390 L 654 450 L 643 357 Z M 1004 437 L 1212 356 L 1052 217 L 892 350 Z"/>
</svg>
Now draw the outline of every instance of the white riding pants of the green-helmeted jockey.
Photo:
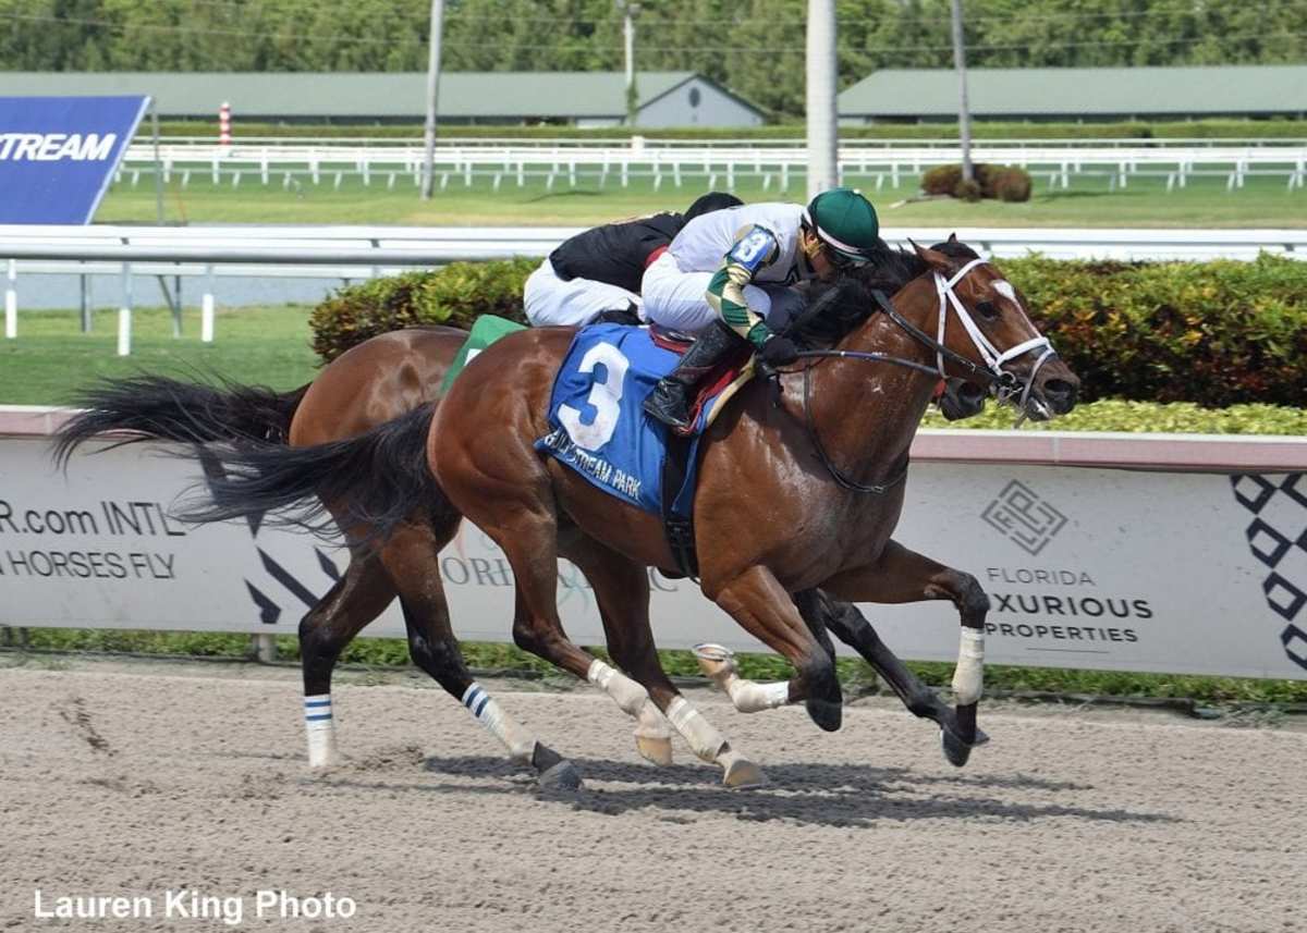
<svg viewBox="0 0 1307 933">
<path fill-rule="evenodd" d="M 706 298 L 712 272 L 681 272 L 676 257 L 664 252 L 644 270 L 640 293 L 646 320 L 660 327 L 699 333 L 719 319 Z M 772 331 L 782 331 L 802 307 L 802 299 L 787 285 L 745 285 L 749 307 L 761 314 Z"/>
</svg>

